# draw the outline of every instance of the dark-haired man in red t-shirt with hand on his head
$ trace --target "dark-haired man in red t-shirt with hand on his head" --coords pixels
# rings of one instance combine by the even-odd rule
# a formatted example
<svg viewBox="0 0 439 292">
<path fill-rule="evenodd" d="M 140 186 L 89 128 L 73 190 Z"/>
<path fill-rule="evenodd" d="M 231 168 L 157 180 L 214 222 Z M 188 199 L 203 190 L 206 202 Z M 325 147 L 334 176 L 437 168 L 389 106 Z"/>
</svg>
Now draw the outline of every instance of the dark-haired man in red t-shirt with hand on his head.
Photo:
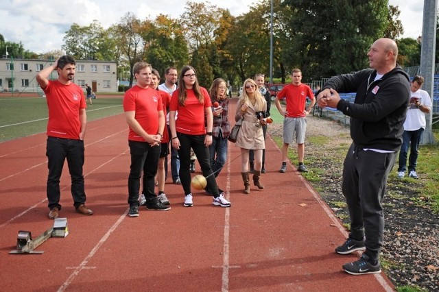
<svg viewBox="0 0 439 292">
<path fill-rule="evenodd" d="M 71 175 L 71 195 L 76 212 L 92 215 L 93 211 L 85 206 L 84 188 L 84 136 L 86 127 L 86 104 L 82 88 L 72 82 L 75 76 L 75 60 L 71 56 L 62 56 L 53 65 L 36 75 L 36 82 L 44 90 L 49 108 L 47 122 L 47 200 L 50 209 L 49 218 L 59 216 L 60 177 L 64 161 L 67 158 Z M 58 80 L 48 80 L 52 71 L 58 72 Z"/>
</svg>

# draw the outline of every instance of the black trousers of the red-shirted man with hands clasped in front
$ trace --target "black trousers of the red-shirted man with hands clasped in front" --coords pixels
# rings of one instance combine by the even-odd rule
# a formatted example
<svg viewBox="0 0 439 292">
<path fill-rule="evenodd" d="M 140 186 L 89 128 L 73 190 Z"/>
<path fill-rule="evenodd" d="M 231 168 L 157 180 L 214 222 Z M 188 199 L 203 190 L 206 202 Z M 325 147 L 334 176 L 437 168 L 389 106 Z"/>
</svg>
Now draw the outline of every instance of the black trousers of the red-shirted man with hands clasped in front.
<svg viewBox="0 0 439 292">
<path fill-rule="evenodd" d="M 131 166 L 128 176 L 128 204 L 139 206 L 140 177 L 143 171 L 143 191 L 145 199 L 154 199 L 154 177 L 157 173 L 160 145 L 151 147 L 149 143 L 128 141 L 130 145 Z"/>
</svg>

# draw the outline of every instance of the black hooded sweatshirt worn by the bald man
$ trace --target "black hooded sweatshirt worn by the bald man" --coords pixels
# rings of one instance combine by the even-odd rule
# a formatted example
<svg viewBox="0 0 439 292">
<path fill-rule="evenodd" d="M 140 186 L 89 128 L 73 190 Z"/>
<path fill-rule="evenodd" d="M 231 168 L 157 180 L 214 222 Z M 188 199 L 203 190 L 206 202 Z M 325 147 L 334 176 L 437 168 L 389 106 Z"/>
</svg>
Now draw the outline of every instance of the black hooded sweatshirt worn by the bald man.
<svg viewBox="0 0 439 292">
<path fill-rule="evenodd" d="M 351 117 L 351 138 L 357 147 L 399 151 L 410 79 L 399 65 L 374 81 L 376 76 L 374 69 L 339 75 L 328 80 L 323 89 L 357 93 L 354 103 L 342 99 L 337 104 L 337 110 Z"/>
</svg>

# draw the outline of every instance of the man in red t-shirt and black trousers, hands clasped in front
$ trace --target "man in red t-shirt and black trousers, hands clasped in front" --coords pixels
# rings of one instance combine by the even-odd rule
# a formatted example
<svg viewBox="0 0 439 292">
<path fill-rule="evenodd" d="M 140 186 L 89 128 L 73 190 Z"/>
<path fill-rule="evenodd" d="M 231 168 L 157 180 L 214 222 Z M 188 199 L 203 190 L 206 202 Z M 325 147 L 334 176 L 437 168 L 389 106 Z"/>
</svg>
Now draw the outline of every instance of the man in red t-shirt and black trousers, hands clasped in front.
<svg viewBox="0 0 439 292">
<path fill-rule="evenodd" d="M 132 68 L 136 84 L 123 96 L 123 111 L 130 127 L 131 167 L 128 176 L 128 216 L 139 217 L 140 178 L 143 171 L 143 194 L 148 210 L 167 211 L 154 193 L 161 139 L 165 129 L 163 102 L 158 90 L 150 87 L 152 66 L 137 62 Z"/>
</svg>

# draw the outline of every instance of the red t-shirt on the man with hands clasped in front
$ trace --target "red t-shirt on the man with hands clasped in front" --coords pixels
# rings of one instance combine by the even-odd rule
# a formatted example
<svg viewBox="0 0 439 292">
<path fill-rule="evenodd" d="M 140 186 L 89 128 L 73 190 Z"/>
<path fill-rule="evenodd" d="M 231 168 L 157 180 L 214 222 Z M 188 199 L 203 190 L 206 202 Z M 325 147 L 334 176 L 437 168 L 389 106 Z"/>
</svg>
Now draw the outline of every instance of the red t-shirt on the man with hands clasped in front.
<svg viewBox="0 0 439 292">
<path fill-rule="evenodd" d="M 158 90 L 153 88 L 141 88 L 132 86 L 123 95 L 123 111 L 135 112 L 136 119 L 143 130 L 150 135 L 158 133 L 158 111 L 163 110 L 163 103 Z M 128 140 L 145 142 L 139 134 L 134 132 L 131 127 L 128 133 Z"/>
</svg>

